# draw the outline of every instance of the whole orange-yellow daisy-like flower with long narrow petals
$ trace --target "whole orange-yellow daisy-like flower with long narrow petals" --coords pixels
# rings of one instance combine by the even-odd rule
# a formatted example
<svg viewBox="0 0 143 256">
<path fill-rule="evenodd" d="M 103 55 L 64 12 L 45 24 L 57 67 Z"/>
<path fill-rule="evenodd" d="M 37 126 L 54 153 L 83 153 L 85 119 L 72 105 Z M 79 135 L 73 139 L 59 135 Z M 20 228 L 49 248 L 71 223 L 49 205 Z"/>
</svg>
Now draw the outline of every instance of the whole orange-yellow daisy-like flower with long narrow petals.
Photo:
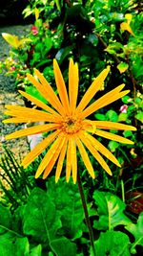
<svg viewBox="0 0 143 256">
<path fill-rule="evenodd" d="M 110 159 L 118 167 L 120 167 L 120 164 L 112 152 L 105 148 L 96 137 L 101 136 L 113 141 L 133 144 L 131 140 L 105 131 L 105 129 L 135 130 L 136 128 L 119 123 L 112 123 L 110 121 L 92 121 L 88 119 L 88 116 L 99 108 L 120 99 L 129 93 L 129 90 L 121 91 L 125 86 L 125 84 L 121 84 L 89 105 L 93 96 L 100 89 L 110 71 L 110 67 L 107 67 L 92 82 L 92 85 L 84 94 L 80 103 L 76 106 L 79 79 L 77 63 L 74 64 L 73 60 L 70 60 L 69 94 L 55 59 L 53 60 L 53 70 L 59 97 L 51 88 L 50 83 L 46 81 L 37 69 L 34 69 L 34 72 L 38 80 L 30 74 L 27 75 L 29 81 L 33 83 L 51 106 L 44 104 L 26 92 L 19 91 L 22 96 L 43 110 L 18 105 L 7 105 L 6 107 L 8 110 L 6 111 L 6 114 L 12 116 L 12 118 L 3 121 L 4 123 L 44 121 L 46 124 L 15 131 L 7 135 L 6 139 L 52 131 L 49 133 L 48 137 L 44 138 L 43 141 L 28 153 L 22 162 L 24 168 L 28 167 L 42 151 L 50 146 L 50 149 L 47 151 L 38 167 L 35 175 L 36 178 L 43 172 L 43 178 L 46 178 L 51 173 L 51 170 L 57 161 L 55 171 L 55 181 L 57 182 L 61 175 L 64 159 L 66 158 L 66 180 L 69 181 L 70 176 L 72 175 L 73 182 L 75 183 L 77 178 L 77 150 L 79 151 L 89 174 L 94 178 L 95 175 L 92 163 L 86 149 L 92 153 L 93 157 L 98 161 L 102 168 L 109 175 L 112 175 L 109 166 L 100 153 Z"/>
</svg>

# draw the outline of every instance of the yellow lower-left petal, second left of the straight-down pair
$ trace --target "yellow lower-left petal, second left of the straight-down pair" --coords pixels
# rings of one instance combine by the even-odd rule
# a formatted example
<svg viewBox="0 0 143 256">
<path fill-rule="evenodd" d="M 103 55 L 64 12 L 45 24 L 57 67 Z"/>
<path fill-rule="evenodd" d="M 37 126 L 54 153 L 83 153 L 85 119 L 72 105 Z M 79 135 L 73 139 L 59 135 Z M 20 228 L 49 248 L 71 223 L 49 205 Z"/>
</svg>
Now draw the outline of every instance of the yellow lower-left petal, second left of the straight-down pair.
<svg viewBox="0 0 143 256">
<path fill-rule="evenodd" d="M 61 144 L 59 145 L 59 147 L 57 148 L 57 150 L 54 152 L 54 154 L 51 157 L 51 161 L 49 162 L 49 164 L 47 165 L 45 171 L 44 171 L 44 175 L 43 178 L 46 178 L 48 175 L 50 175 L 51 170 L 59 156 L 59 153 L 63 147 L 63 144 L 65 143 L 65 138 L 62 140 Z"/>
</svg>

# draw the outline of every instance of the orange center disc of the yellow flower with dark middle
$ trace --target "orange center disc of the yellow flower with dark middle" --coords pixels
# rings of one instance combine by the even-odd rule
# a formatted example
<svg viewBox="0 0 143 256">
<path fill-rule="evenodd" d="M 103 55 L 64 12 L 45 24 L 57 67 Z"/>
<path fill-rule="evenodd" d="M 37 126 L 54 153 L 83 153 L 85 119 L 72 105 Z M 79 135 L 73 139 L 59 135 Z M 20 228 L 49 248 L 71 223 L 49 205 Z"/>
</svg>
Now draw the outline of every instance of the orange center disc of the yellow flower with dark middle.
<svg viewBox="0 0 143 256">
<path fill-rule="evenodd" d="M 77 133 L 82 129 L 82 120 L 73 117 L 66 117 L 61 122 L 61 129 L 68 134 Z"/>
</svg>

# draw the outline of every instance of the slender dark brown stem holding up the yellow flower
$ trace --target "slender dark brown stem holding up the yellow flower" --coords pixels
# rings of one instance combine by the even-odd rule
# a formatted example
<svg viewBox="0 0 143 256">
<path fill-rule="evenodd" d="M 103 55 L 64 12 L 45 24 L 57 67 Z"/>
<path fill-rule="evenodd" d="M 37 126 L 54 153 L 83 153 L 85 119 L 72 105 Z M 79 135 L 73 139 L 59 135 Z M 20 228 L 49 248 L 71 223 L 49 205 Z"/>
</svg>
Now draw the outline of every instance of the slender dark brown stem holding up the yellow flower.
<svg viewBox="0 0 143 256">
<path fill-rule="evenodd" d="M 80 198 L 82 201 L 82 206 L 84 209 L 84 213 L 85 213 L 85 220 L 89 229 L 89 236 L 90 236 L 90 241 L 91 241 L 91 245 L 92 245 L 92 253 L 93 256 L 95 256 L 95 248 L 94 248 L 94 244 L 93 244 L 93 234 L 92 234 L 92 225 L 91 225 L 91 221 L 89 218 L 89 214 L 88 214 L 88 207 L 87 207 L 87 202 L 86 202 L 86 198 L 84 195 L 84 190 L 83 190 L 83 186 L 82 186 L 82 182 L 80 179 L 80 175 L 77 173 L 77 182 L 78 182 L 78 189 L 79 189 L 79 193 L 80 193 Z"/>
</svg>

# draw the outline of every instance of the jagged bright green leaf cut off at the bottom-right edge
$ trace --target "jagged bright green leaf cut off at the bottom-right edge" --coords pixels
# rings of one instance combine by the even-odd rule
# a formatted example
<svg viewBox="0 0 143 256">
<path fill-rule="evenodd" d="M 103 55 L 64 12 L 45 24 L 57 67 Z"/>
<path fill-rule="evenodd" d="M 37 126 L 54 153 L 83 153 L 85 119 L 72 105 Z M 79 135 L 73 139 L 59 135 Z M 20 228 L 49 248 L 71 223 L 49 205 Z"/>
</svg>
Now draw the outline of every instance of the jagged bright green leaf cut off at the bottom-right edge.
<svg viewBox="0 0 143 256">
<path fill-rule="evenodd" d="M 143 246 L 143 213 L 139 215 L 139 218 L 137 220 L 136 224 L 130 223 L 125 227 L 129 232 L 131 232 L 134 236 L 134 243 L 132 246 L 132 253 L 135 254 L 135 246 L 136 245 L 142 245 Z"/>
</svg>

